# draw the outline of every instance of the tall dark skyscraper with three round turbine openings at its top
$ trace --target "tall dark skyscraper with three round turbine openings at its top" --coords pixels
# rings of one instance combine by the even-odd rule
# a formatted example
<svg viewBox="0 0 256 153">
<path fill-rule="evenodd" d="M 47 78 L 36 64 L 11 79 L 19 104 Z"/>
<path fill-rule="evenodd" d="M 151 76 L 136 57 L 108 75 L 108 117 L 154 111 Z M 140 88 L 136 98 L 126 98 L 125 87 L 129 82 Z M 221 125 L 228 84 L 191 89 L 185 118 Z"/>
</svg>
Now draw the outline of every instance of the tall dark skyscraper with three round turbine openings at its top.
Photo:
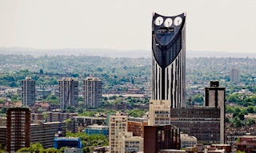
<svg viewBox="0 0 256 153">
<path fill-rule="evenodd" d="M 186 14 L 152 20 L 152 100 L 185 106 Z"/>
</svg>

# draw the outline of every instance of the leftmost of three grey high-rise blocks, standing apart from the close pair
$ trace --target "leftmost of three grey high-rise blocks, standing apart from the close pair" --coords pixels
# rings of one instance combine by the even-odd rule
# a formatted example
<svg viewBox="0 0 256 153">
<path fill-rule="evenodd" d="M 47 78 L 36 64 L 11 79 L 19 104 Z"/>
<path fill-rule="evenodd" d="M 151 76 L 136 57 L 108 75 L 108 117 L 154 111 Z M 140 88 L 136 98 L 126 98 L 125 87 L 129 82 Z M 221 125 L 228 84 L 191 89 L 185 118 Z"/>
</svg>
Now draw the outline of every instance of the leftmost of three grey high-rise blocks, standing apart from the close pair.
<svg viewBox="0 0 256 153">
<path fill-rule="evenodd" d="M 35 80 L 22 80 L 22 106 L 33 106 L 35 102 Z"/>
</svg>

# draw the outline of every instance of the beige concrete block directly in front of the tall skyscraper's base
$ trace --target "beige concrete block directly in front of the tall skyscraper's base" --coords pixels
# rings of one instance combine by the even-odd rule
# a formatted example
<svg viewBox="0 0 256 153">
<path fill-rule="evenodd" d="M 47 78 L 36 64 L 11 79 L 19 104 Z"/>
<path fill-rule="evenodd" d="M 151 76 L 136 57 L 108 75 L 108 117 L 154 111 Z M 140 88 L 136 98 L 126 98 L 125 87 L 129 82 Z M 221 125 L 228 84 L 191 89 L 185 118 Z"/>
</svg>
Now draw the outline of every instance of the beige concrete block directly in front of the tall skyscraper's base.
<svg viewBox="0 0 256 153">
<path fill-rule="evenodd" d="M 170 125 L 170 100 L 150 100 L 149 125 Z"/>
</svg>

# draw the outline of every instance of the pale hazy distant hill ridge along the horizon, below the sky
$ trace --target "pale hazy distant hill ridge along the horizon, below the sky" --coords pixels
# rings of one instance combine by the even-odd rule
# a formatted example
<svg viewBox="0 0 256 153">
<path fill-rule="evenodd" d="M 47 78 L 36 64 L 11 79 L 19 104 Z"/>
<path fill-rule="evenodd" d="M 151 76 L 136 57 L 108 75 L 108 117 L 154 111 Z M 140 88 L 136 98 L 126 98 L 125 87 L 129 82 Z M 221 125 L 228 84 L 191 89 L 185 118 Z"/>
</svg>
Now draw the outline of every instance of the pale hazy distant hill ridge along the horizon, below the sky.
<svg viewBox="0 0 256 153">
<path fill-rule="evenodd" d="M 34 56 L 98 56 L 98 57 L 151 57 L 149 50 L 116 50 L 116 49 L 30 49 L 20 47 L 0 48 L 1 54 L 29 54 Z M 256 58 L 256 53 L 228 53 L 221 51 L 187 50 L 186 57 L 242 57 Z"/>
</svg>

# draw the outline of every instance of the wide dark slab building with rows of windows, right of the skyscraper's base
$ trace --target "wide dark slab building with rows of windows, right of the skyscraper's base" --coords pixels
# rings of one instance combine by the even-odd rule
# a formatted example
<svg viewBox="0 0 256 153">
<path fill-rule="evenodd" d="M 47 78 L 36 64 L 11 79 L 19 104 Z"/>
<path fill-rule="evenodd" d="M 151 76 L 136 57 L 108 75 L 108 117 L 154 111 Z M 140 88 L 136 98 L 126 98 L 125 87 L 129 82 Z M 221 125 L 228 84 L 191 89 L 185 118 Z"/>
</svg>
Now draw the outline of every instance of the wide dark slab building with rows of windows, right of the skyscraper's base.
<svg viewBox="0 0 256 153">
<path fill-rule="evenodd" d="M 171 125 L 180 128 L 183 133 L 194 135 L 198 143 L 220 143 L 220 108 L 171 108 L 170 113 Z"/>
</svg>

